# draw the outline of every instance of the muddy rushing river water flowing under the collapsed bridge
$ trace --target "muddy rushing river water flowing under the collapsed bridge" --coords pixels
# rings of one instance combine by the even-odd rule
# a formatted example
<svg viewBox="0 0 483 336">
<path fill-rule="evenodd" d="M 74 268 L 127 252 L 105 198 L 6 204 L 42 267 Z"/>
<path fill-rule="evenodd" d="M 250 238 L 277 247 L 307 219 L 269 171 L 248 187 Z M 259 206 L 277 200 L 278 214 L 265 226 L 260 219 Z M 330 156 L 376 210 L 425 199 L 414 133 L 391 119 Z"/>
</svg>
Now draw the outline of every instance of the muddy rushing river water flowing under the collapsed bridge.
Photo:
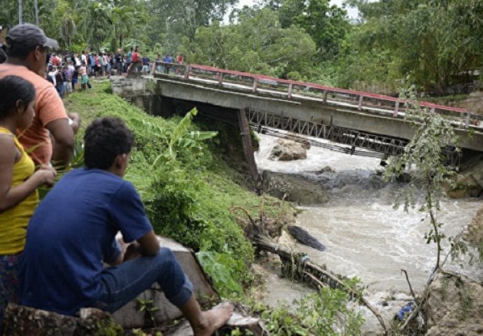
<svg viewBox="0 0 483 336">
<path fill-rule="evenodd" d="M 317 207 L 301 207 L 297 225 L 305 228 L 326 246 L 323 252 L 298 245 L 309 258 L 325 264 L 334 272 L 358 276 L 367 291 L 375 293 L 407 292 L 401 269 L 405 269 L 415 291 L 423 289 L 435 265 L 436 246 L 426 244 L 428 221 L 417 209 L 409 213 L 393 209 L 395 196 L 404 183 L 384 183 L 377 175 L 380 160 L 351 156 L 312 146 L 306 160 L 281 162 L 269 160 L 277 138 L 260 134 L 260 150 L 255 154 L 258 169 L 300 174 L 314 179 L 328 190 L 330 201 Z M 334 172 L 325 172 L 330 167 Z M 442 201 L 438 220 L 442 230 L 455 236 L 482 207 L 482 200 Z M 447 247 L 447 246 L 446 246 Z M 445 248 L 444 251 L 448 251 Z M 447 267 L 456 269 L 454 262 Z M 463 273 L 480 278 L 481 269 Z"/>
</svg>

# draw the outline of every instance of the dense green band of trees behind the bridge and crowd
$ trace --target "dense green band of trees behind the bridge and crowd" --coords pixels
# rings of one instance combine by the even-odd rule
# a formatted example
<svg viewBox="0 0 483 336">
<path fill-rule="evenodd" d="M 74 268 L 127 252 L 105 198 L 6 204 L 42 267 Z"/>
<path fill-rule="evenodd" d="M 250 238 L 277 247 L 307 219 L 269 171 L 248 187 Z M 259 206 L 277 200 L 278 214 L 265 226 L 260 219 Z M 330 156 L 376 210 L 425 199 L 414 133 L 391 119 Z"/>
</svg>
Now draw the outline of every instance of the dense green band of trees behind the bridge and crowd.
<svg viewBox="0 0 483 336">
<path fill-rule="evenodd" d="M 62 48 L 141 46 L 192 63 L 396 94 L 463 92 L 483 62 L 483 0 L 0 0 L 0 25 L 38 22 Z M 230 14 L 228 16 L 228 14 Z M 0 37 L 1 38 L 1 37 Z M 481 72 L 481 71 L 480 71 Z"/>
</svg>

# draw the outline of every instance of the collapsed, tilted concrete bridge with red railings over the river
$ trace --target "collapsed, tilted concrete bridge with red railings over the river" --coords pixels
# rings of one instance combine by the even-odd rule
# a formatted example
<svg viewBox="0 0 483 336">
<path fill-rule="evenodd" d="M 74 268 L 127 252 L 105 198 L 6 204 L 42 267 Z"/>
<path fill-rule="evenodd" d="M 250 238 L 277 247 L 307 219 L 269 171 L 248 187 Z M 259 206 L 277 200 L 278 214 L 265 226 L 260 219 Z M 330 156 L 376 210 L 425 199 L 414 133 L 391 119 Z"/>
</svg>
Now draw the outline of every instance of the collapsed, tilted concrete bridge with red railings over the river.
<svg viewBox="0 0 483 336">
<path fill-rule="evenodd" d="M 197 64 L 158 62 L 143 77 L 155 80 L 160 114 L 175 104 L 197 106 L 202 113 L 228 120 L 237 115 L 242 134 L 249 133 L 248 124 L 256 130 L 270 127 L 346 144 L 351 147 L 348 153 L 366 148 L 381 155 L 400 154 L 414 134 L 405 121 L 404 102 L 396 97 Z M 442 113 L 451 120 L 460 136 L 458 146 L 483 151 L 482 117 L 427 102 L 421 107 L 429 115 Z"/>
</svg>

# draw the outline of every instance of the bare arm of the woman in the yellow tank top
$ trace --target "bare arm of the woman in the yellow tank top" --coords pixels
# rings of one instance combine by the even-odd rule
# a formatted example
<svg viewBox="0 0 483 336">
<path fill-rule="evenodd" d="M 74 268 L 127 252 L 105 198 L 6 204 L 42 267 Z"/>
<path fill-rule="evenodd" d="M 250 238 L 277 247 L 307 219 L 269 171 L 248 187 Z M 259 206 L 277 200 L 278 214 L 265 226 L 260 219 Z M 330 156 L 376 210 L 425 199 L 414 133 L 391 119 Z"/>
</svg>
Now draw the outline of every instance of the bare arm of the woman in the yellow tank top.
<svg viewBox="0 0 483 336">
<path fill-rule="evenodd" d="M 15 207 L 25 200 L 38 186 L 53 183 L 57 175 L 55 169 L 41 167 L 27 180 L 11 188 L 13 178 L 13 165 L 17 148 L 10 137 L 0 137 L 0 213 Z"/>
</svg>

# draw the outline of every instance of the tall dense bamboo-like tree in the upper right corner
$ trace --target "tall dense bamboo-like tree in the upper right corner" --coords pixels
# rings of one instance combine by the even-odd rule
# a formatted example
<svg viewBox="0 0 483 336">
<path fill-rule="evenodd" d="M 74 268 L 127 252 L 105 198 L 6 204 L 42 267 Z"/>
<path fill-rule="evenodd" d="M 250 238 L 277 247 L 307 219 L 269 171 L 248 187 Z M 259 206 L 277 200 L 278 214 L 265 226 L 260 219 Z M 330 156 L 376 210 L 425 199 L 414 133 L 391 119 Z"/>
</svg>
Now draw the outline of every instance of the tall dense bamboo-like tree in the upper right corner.
<svg viewBox="0 0 483 336">
<path fill-rule="evenodd" d="M 353 48 L 391 52 L 400 76 L 421 90 L 445 92 L 483 62 L 481 0 L 347 2 L 362 18 Z"/>
</svg>

